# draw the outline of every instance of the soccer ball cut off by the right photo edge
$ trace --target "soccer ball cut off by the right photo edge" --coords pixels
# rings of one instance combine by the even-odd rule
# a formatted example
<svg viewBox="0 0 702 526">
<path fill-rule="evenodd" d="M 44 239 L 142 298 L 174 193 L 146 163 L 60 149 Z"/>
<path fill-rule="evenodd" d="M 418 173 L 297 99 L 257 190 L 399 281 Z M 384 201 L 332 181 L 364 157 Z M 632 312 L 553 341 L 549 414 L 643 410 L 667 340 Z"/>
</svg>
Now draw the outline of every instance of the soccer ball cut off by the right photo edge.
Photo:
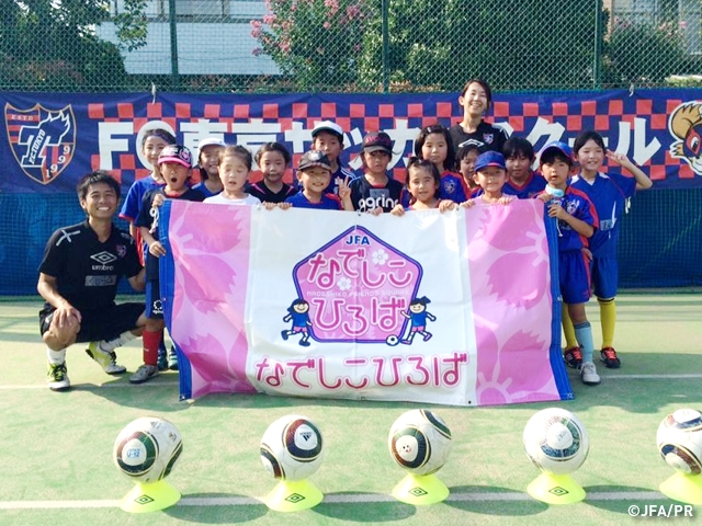
<svg viewBox="0 0 702 526">
<path fill-rule="evenodd" d="M 656 443 L 666 464 L 684 474 L 702 473 L 702 414 L 679 409 L 658 426 Z"/>
</svg>

